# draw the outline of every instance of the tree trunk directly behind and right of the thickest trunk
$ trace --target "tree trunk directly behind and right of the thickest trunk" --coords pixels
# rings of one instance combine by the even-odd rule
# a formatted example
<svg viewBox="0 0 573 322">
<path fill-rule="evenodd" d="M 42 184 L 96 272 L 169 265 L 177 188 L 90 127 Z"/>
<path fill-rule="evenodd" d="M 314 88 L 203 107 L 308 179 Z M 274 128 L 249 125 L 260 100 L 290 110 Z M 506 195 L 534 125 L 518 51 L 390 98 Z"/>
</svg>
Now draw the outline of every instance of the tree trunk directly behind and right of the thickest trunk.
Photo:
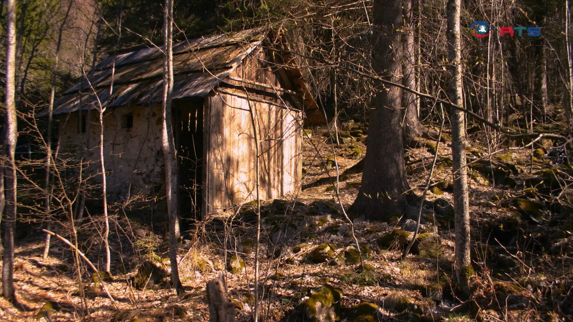
<svg viewBox="0 0 573 322">
<path fill-rule="evenodd" d="M 416 89 L 416 65 L 418 61 L 418 57 L 416 55 L 418 50 L 416 50 L 417 44 L 414 38 L 415 19 L 413 2 L 414 0 L 403 1 L 403 15 L 404 21 L 406 22 L 402 39 L 404 53 L 403 85 L 411 89 Z M 438 132 L 430 130 L 420 123 L 418 117 L 418 101 L 418 95 L 408 91 L 403 91 L 402 107 L 405 113 L 403 124 L 405 146 L 415 147 L 417 146 L 419 139 L 438 139 Z"/>
</svg>

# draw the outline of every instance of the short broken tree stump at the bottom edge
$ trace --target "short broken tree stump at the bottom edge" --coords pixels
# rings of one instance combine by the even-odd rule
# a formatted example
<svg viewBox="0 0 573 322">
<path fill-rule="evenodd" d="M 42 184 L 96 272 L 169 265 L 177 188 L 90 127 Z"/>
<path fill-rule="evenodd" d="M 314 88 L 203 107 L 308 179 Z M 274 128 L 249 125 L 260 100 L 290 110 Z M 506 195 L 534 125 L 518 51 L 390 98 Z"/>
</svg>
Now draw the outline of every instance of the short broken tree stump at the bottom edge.
<svg viewBox="0 0 573 322">
<path fill-rule="evenodd" d="M 209 301 L 209 322 L 234 322 L 235 305 L 227 296 L 227 285 L 223 273 L 207 282 L 207 300 Z"/>
</svg>

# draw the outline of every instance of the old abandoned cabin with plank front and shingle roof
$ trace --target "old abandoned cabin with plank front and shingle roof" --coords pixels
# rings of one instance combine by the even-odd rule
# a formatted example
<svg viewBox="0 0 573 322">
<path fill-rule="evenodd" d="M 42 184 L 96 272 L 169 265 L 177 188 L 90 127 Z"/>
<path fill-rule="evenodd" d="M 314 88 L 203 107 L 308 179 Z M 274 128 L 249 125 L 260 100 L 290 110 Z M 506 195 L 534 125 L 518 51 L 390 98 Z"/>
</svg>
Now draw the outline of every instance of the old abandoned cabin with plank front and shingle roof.
<svg viewBox="0 0 573 322">
<path fill-rule="evenodd" d="M 256 199 L 250 111 L 260 139 L 261 199 L 299 189 L 303 123 L 323 123 L 324 117 L 293 57 L 257 30 L 180 42 L 173 55 L 179 215 L 200 210 L 204 217 Z M 162 77 L 159 49 L 119 52 L 95 66 L 91 81 L 66 90 L 53 109 L 61 150 L 88 151 L 95 174 L 101 103 L 108 199 L 136 196 L 159 211 L 166 210 L 160 201 Z"/>
</svg>

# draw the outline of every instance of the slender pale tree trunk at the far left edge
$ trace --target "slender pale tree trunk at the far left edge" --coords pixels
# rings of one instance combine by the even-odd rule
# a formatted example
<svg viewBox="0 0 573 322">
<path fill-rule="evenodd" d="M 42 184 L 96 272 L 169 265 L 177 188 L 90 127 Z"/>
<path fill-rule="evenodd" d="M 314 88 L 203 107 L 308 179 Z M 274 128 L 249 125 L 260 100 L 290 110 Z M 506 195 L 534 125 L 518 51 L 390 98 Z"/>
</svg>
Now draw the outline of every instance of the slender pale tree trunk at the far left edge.
<svg viewBox="0 0 573 322">
<path fill-rule="evenodd" d="M 6 46 L 6 141 L 3 154 L 6 184 L 6 206 L 4 219 L 4 256 L 2 258 L 2 294 L 15 301 L 14 292 L 14 230 L 16 226 L 16 167 L 14 154 L 18 134 L 15 103 L 15 48 L 16 48 L 16 6 L 14 0 L 7 0 L 7 46 Z"/>
</svg>

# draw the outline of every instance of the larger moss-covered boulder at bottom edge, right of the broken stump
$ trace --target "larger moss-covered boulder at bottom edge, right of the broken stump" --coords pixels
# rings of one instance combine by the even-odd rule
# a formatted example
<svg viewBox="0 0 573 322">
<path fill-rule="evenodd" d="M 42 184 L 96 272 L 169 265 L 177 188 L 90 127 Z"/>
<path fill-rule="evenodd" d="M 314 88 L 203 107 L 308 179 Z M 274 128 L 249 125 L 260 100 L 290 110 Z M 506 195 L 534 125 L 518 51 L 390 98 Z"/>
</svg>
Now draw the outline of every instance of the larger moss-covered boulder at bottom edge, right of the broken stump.
<svg viewBox="0 0 573 322">
<path fill-rule="evenodd" d="M 311 322 L 340 321 L 340 300 L 344 292 L 340 288 L 326 284 L 313 293 L 304 303 L 304 315 Z"/>
</svg>

